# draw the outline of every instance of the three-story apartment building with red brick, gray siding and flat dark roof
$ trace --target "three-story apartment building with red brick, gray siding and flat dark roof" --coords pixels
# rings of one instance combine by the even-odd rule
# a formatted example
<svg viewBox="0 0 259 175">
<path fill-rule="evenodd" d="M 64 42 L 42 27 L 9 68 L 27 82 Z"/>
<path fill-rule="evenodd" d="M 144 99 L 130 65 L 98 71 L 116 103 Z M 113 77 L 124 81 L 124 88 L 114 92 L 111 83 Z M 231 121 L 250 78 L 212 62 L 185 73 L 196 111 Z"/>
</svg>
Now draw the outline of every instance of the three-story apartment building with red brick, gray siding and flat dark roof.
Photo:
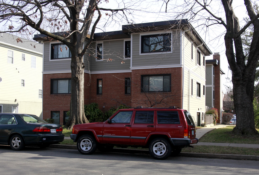
<svg viewBox="0 0 259 175">
<path fill-rule="evenodd" d="M 45 35 L 34 39 L 44 44 L 44 119 L 65 124 L 71 54 Z M 190 111 L 200 125 L 205 113 L 205 56 L 211 54 L 187 20 L 123 25 L 122 31 L 96 33 L 84 55 L 84 103 L 98 103 L 102 110 L 120 104 L 178 106 Z"/>
</svg>

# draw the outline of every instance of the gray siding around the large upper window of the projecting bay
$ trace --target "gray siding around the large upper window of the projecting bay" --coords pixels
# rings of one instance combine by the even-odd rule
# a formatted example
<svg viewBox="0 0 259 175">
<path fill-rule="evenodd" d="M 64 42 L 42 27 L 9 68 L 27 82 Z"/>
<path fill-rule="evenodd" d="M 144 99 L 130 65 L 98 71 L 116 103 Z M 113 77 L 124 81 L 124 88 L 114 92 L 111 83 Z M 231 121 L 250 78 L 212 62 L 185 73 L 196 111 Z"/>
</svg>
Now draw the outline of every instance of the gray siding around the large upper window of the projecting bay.
<svg viewBox="0 0 259 175">
<path fill-rule="evenodd" d="M 162 33 L 162 32 L 161 32 Z M 152 33 L 147 33 L 151 35 Z M 143 35 L 142 35 L 143 36 Z M 132 67 L 180 64 L 180 34 L 173 32 L 172 53 L 140 55 L 140 34 L 132 34 Z"/>
</svg>

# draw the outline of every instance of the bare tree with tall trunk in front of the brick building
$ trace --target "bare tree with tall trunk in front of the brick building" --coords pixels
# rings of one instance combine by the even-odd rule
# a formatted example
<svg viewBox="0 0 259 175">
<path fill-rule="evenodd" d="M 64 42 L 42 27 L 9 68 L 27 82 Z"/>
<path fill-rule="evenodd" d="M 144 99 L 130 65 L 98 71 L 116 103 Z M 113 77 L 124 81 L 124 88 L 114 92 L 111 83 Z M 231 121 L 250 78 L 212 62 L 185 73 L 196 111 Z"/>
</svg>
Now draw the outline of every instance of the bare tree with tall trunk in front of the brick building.
<svg viewBox="0 0 259 175">
<path fill-rule="evenodd" d="M 106 22 L 125 20 L 132 5 L 123 3 L 121 9 L 99 7 L 108 0 L 1 0 L 0 22 L 8 26 L 3 32 L 38 31 L 46 39 L 58 40 L 71 52 L 71 102 L 66 126 L 87 123 L 84 114 L 84 62 L 83 55 L 93 40 L 93 34 L 104 13 Z M 134 2 L 130 2 L 134 4 Z M 102 4 L 104 6 L 104 4 Z M 118 16 L 116 18 L 116 16 Z M 116 20 L 117 19 L 117 20 Z M 102 26 L 103 27 L 103 26 Z M 56 33 L 53 33 L 56 32 Z M 62 48 L 60 48 L 62 49 Z M 62 51 L 62 50 L 61 50 Z"/>
</svg>

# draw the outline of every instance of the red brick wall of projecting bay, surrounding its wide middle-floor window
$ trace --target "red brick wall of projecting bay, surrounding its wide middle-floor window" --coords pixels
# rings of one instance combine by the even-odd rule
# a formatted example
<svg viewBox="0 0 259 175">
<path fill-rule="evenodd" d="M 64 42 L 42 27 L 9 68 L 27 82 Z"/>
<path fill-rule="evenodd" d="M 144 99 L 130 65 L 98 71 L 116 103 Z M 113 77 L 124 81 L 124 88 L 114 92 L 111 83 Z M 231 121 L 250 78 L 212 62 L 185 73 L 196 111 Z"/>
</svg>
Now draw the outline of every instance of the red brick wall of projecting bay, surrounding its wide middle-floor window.
<svg viewBox="0 0 259 175">
<path fill-rule="evenodd" d="M 141 75 L 153 75 L 153 74 L 171 74 L 171 92 L 141 92 Z M 131 96 L 132 96 L 132 106 L 147 106 L 150 107 L 155 102 L 160 102 L 161 104 L 156 104 L 153 107 L 168 107 L 168 106 L 178 106 L 182 108 L 182 68 L 161 68 L 161 69 L 140 69 L 132 70 L 132 82 L 131 83 Z"/>
</svg>

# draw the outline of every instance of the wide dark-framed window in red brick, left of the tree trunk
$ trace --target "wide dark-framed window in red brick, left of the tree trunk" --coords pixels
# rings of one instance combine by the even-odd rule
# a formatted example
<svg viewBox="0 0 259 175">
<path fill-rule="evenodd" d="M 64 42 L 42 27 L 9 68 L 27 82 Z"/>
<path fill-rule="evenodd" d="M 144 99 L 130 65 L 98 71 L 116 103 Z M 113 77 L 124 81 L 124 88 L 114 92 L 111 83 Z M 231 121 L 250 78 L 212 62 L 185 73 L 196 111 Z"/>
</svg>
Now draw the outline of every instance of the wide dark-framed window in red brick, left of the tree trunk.
<svg viewBox="0 0 259 175">
<path fill-rule="evenodd" d="M 51 94 L 70 94 L 71 79 L 53 79 L 51 80 Z"/>
</svg>

